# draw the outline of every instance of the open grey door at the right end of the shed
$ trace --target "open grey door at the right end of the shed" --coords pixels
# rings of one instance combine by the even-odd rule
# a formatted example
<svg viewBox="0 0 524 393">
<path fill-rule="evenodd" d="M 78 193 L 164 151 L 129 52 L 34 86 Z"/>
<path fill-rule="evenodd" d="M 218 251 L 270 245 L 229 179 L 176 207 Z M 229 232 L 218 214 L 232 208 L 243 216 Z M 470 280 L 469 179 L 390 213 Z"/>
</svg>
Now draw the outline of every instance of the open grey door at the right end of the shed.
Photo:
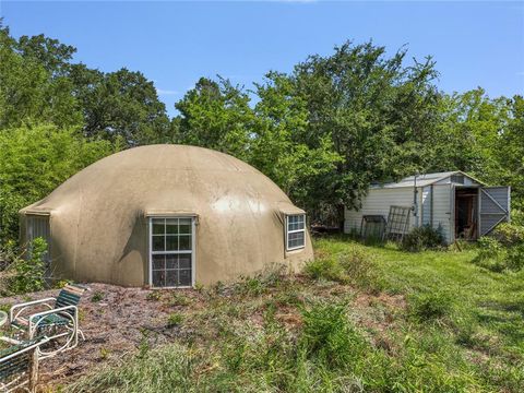
<svg viewBox="0 0 524 393">
<path fill-rule="evenodd" d="M 488 235 L 502 222 L 510 219 L 510 188 L 483 187 L 480 189 L 480 236 Z"/>
</svg>

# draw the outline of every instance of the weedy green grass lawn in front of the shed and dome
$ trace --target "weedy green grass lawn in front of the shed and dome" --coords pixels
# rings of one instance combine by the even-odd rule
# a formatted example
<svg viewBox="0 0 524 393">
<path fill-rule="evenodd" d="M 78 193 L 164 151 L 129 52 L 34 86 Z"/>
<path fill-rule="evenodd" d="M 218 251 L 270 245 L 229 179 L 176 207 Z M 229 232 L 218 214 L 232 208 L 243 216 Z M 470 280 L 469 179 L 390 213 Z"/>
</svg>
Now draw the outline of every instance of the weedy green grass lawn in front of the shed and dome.
<svg viewBox="0 0 524 393">
<path fill-rule="evenodd" d="M 406 253 L 345 238 L 314 242 L 303 275 L 275 272 L 172 307 L 158 348 L 66 386 L 73 392 L 523 392 L 524 274 L 476 251 Z M 175 299 L 175 300 L 174 300 Z"/>
</svg>

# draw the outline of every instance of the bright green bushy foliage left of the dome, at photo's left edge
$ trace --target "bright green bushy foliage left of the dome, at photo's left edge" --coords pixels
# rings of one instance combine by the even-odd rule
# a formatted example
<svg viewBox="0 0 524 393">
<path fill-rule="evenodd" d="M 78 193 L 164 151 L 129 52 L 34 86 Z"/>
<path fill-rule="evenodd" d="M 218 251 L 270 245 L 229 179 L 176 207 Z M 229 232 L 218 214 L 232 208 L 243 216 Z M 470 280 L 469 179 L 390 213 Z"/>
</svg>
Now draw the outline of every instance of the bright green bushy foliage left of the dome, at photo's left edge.
<svg viewBox="0 0 524 393">
<path fill-rule="evenodd" d="M 107 141 L 84 139 L 52 124 L 0 131 L 0 239 L 17 238 L 17 212 L 47 195 L 93 162 L 115 152 Z"/>
</svg>

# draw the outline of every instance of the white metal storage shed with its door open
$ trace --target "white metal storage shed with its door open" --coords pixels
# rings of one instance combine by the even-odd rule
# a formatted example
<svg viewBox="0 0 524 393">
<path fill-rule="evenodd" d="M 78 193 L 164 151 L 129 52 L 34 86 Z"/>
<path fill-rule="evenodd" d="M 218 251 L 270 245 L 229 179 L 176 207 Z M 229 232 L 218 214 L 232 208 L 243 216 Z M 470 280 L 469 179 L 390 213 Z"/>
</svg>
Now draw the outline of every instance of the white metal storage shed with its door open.
<svg viewBox="0 0 524 393">
<path fill-rule="evenodd" d="M 344 231 L 360 233 L 364 216 L 388 219 L 391 206 L 405 206 L 412 209 L 408 230 L 440 226 L 448 243 L 475 240 L 510 219 L 510 187 L 488 187 L 460 170 L 409 176 L 371 186 L 360 210 L 345 209 Z"/>
</svg>

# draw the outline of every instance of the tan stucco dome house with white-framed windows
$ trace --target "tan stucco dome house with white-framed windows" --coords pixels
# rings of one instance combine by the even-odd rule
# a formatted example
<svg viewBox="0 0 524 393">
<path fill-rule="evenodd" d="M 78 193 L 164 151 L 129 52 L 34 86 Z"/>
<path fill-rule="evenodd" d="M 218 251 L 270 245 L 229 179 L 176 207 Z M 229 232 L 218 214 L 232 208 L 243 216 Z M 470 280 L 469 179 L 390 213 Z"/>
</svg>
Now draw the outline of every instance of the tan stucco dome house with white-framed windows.
<svg viewBox="0 0 524 393">
<path fill-rule="evenodd" d="M 227 282 L 312 259 L 305 212 L 267 177 L 212 150 L 150 145 L 83 169 L 21 212 L 57 277 L 123 286 Z"/>
</svg>

